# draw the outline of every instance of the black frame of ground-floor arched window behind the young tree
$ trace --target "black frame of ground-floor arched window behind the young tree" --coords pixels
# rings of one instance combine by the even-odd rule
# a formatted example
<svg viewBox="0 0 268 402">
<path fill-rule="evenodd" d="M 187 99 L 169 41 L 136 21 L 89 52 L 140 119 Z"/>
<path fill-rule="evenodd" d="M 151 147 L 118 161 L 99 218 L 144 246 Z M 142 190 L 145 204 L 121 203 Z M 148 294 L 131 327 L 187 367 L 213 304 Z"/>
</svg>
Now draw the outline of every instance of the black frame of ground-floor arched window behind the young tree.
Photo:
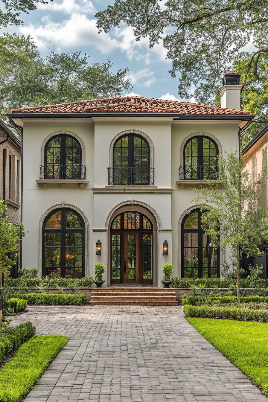
<svg viewBox="0 0 268 402">
<path fill-rule="evenodd" d="M 194 212 L 198 212 L 198 229 L 184 229 L 186 219 Z M 202 228 L 202 212 L 199 208 L 193 209 L 190 213 L 182 219 L 181 225 L 181 277 L 184 278 L 184 234 L 196 233 L 198 234 L 198 278 L 203 278 L 203 234 L 205 230 Z M 209 267 L 208 267 L 209 268 Z M 210 271 L 208 270 L 208 277 L 211 278 Z M 220 246 L 217 247 L 217 278 L 221 277 L 221 250 Z"/>
</svg>

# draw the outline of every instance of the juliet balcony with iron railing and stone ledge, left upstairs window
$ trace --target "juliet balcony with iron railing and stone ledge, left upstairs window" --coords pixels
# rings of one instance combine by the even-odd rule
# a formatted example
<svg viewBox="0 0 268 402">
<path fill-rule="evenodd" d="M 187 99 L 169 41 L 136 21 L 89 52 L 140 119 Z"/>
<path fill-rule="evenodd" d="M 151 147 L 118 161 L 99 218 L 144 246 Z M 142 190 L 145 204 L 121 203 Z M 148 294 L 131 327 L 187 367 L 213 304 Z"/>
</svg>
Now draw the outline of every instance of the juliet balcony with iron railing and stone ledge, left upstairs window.
<svg viewBox="0 0 268 402">
<path fill-rule="evenodd" d="M 60 184 L 65 188 L 66 184 L 78 184 L 83 188 L 88 183 L 86 180 L 86 166 L 80 164 L 46 164 L 40 165 L 38 184 L 43 184 L 47 188 L 48 184 Z"/>
</svg>

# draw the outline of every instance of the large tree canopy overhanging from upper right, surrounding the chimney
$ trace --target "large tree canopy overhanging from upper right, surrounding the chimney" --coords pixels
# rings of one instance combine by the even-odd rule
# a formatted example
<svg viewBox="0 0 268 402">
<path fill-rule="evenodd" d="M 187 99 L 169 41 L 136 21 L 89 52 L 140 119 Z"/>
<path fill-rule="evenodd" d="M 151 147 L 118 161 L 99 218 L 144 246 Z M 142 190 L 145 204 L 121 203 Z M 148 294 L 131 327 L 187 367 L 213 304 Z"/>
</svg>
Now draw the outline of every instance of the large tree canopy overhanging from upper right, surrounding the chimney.
<svg viewBox="0 0 268 402">
<path fill-rule="evenodd" d="M 137 41 L 149 37 L 150 47 L 162 40 L 182 98 L 219 105 L 223 74 L 241 73 L 241 107 L 259 122 L 249 135 L 268 122 L 267 0 L 115 0 L 95 15 L 100 31 L 125 23 Z"/>
</svg>

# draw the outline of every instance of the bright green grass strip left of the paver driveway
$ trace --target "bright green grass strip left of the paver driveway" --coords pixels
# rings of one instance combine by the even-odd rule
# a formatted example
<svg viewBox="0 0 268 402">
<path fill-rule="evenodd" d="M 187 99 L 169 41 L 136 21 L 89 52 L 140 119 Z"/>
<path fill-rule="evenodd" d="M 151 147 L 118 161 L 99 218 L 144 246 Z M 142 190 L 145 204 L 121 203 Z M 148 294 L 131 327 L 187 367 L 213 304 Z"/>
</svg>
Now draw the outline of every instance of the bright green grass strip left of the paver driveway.
<svg viewBox="0 0 268 402">
<path fill-rule="evenodd" d="M 18 402 L 68 342 L 60 335 L 33 336 L 0 369 L 0 401 Z"/>
</svg>

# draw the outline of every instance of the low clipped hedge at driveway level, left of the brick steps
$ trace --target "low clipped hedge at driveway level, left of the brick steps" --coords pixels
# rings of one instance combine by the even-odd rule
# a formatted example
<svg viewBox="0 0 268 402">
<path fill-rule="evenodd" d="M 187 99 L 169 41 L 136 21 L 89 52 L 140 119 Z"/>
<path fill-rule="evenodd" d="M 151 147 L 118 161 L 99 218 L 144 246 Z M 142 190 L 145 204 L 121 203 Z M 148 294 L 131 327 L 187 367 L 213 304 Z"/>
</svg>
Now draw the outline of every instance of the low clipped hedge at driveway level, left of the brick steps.
<svg viewBox="0 0 268 402">
<path fill-rule="evenodd" d="M 20 299 L 26 299 L 29 304 L 75 304 L 82 306 L 86 304 L 88 298 L 86 295 L 64 295 L 64 294 L 50 294 L 50 293 L 15 293 L 11 295 Z"/>
</svg>

